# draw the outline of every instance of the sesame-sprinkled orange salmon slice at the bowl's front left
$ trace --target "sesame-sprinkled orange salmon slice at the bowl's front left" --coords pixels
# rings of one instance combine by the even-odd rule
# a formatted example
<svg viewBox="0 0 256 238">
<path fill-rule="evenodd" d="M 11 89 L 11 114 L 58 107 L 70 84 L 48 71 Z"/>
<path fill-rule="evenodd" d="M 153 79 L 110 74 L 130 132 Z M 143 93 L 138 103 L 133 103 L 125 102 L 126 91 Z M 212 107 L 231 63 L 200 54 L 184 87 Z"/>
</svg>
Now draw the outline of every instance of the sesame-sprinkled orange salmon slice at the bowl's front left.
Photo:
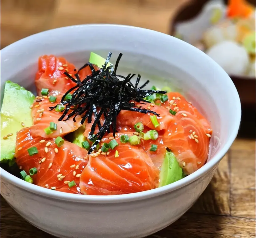
<svg viewBox="0 0 256 238">
<path fill-rule="evenodd" d="M 87 151 L 68 141 L 57 147 L 55 139 L 33 137 L 30 128 L 23 128 L 17 134 L 15 157 L 18 166 L 29 174 L 31 168 L 37 168 L 37 174 L 31 176 L 34 184 L 58 191 L 79 193 L 79 176 L 86 167 Z M 30 156 L 27 149 L 36 147 L 38 154 Z M 69 188 L 68 181 L 75 181 Z"/>
</svg>

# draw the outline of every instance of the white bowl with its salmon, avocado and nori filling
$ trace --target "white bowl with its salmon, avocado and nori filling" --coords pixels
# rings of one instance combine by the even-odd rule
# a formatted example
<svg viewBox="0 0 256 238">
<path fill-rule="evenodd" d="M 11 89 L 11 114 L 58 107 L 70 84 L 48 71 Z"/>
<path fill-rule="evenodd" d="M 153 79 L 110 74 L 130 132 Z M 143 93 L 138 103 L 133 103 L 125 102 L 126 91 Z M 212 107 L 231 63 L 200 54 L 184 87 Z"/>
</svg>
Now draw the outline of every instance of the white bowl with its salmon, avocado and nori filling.
<svg viewBox="0 0 256 238">
<path fill-rule="evenodd" d="M 225 71 L 179 39 L 42 32 L 1 50 L 1 195 L 58 237 L 143 237 L 193 205 L 240 117 Z"/>
</svg>

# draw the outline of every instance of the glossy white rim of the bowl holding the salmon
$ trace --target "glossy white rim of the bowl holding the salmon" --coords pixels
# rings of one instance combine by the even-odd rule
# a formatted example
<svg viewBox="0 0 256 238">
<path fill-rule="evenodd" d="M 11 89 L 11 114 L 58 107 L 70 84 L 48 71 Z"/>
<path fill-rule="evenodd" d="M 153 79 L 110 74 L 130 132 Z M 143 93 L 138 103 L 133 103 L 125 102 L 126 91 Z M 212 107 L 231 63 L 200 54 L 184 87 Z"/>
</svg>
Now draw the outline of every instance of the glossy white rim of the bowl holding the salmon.
<svg viewBox="0 0 256 238">
<path fill-rule="evenodd" d="M 67 31 L 71 28 L 86 28 L 86 27 L 114 27 L 114 28 L 130 28 L 132 30 L 136 31 L 141 31 L 150 33 L 150 34 L 158 34 L 159 37 L 171 37 L 173 38 L 173 41 L 179 41 L 179 44 L 183 44 L 185 47 L 188 49 L 194 50 L 195 47 L 186 43 L 185 41 L 179 40 L 173 36 L 167 35 L 165 33 L 153 31 L 150 29 L 145 29 L 145 28 L 140 28 L 140 27 L 134 27 L 134 26 L 129 26 L 129 25 L 118 25 L 118 24 L 82 24 L 82 25 L 71 25 L 67 27 L 60 27 L 60 28 L 55 28 L 43 32 L 36 33 L 34 35 L 25 37 L 19 41 L 16 41 L 5 48 L 1 50 L 1 55 L 4 53 L 8 53 L 8 49 L 12 48 L 15 44 L 23 43 L 27 39 L 31 39 L 33 37 L 40 37 L 41 35 L 44 34 L 54 34 L 55 31 Z M 202 54 L 202 57 L 208 57 L 206 54 L 201 52 L 200 50 L 197 51 L 197 54 Z M 217 66 L 217 63 L 215 63 L 213 60 L 212 62 Z M 217 66 L 220 67 L 220 66 Z M 228 77 L 228 75 L 227 75 Z M 28 182 L 23 181 L 22 179 L 19 179 L 18 177 L 15 177 L 14 175 L 10 174 L 9 172 L 5 171 L 3 168 L 1 169 L 0 177 L 11 183 L 12 185 L 26 190 L 30 193 L 33 194 L 38 194 L 40 196 L 46 197 L 46 198 L 52 198 L 52 199 L 58 199 L 58 200 L 65 200 L 65 201 L 74 201 L 74 202 L 81 202 L 81 203 L 122 203 L 122 202 L 131 202 L 131 201 L 138 201 L 141 199 L 148 199 L 152 198 L 155 196 L 160 196 L 165 193 L 172 192 L 174 190 L 177 190 L 179 188 L 182 188 L 184 186 L 187 186 L 188 184 L 194 182 L 198 178 L 202 177 L 205 175 L 207 172 L 210 170 L 213 170 L 214 167 L 220 162 L 220 160 L 224 157 L 230 146 L 232 145 L 234 139 L 237 136 L 239 125 L 240 125 L 240 120 L 241 120 L 241 103 L 240 99 L 238 96 L 238 92 L 234 86 L 234 83 L 232 82 L 231 79 L 229 81 L 229 90 L 233 95 L 232 101 L 234 102 L 234 105 L 238 108 L 238 113 L 237 117 L 233 118 L 232 120 L 234 122 L 234 128 L 232 130 L 232 133 L 230 133 L 229 137 L 227 138 L 227 141 L 225 145 L 222 146 L 221 150 L 219 150 L 213 158 L 209 162 L 207 162 L 205 165 L 203 165 L 200 169 L 192 173 L 191 175 L 174 182 L 172 184 L 156 188 L 156 189 L 151 189 L 143 192 L 137 192 L 137 193 L 131 193 L 131 194 L 121 194 L 121 195 L 108 195 L 108 196 L 103 196 L 103 195 L 86 195 L 86 196 L 81 196 L 80 194 L 71 194 L 71 193 L 64 193 L 64 192 L 59 192 L 59 191 L 54 191 L 51 189 L 43 188 L 34 184 L 30 184 Z M 3 181 L 1 181 L 2 184 Z M 5 182 L 3 184 L 6 185 Z"/>
</svg>

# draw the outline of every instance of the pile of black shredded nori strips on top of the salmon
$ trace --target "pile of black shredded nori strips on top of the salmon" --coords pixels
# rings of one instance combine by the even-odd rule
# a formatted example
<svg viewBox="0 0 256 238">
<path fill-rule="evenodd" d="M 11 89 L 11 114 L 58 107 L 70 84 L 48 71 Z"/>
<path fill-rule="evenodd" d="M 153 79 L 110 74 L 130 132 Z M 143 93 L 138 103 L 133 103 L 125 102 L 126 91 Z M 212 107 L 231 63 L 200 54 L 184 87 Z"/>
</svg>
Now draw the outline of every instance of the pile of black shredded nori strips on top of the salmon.
<svg viewBox="0 0 256 238">
<path fill-rule="evenodd" d="M 113 136 L 115 136 L 115 133 L 117 132 L 116 117 L 121 110 L 145 114 L 152 113 L 159 116 L 159 114 L 154 111 L 142 107 L 136 107 L 135 102 L 148 103 L 148 101 L 143 98 L 154 93 L 166 93 L 166 91 L 159 90 L 141 90 L 149 83 L 149 80 L 147 80 L 141 87 L 137 88 L 141 79 L 141 75 L 139 74 L 135 85 L 130 82 L 135 74 L 128 74 L 126 77 L 116 75 L 118 63 L 122 57 L 122 53 L 119 54 L 115 67 L 112 65 L 107 67 L 111 54 L 112 52 L 109 52 L 104 66 L 102 69 L 97 71 L 94 69 L 91 63 L 86 63 L 74 75 L 75 78 L 65 72 L 65 75 L 77 85 L 70 88 L 70 90 L 63 95 L 61 102 L 59 102 L 59 104 L 65 105 L 66 109 L 62 112 L 62 116 L 58 120 L 64 120 L 67 113 L 71 110 L 72 112 L 65 118 L 64 121 L 69 120 L 69 118 L 73 116 L 73 121 L 75 121 L 76 116 L 81 115 L 81 124 L 83 124 L 86 119 L 90 124 L 92 121 L 92 115 L 94 114 L 95 120 L 91 126 L 88 139 L 95 142 L 88 151 L 88 154 L 90 154 L 96 148 L 106 132 L 110 133 L 110 127 L 113 130 Z M 85 67 L 90 67 L 92 73 L 85 79 L 81 80 L 78 74 L 79 71 Z M 75 91 L 72 94 L 72 99 L 65 100 L 67 94 L 73 90 Z M 57 105 L 50 108 L 53 110 L 56 107 Z M 97 109 L 100 111 L 98 112 Z M 103 125 L 100 123 L 100 118 L 102 115 L 105 118 Z M 96 126 L 99 128 L 99 132 L 94 134 Z"/>
</svg>

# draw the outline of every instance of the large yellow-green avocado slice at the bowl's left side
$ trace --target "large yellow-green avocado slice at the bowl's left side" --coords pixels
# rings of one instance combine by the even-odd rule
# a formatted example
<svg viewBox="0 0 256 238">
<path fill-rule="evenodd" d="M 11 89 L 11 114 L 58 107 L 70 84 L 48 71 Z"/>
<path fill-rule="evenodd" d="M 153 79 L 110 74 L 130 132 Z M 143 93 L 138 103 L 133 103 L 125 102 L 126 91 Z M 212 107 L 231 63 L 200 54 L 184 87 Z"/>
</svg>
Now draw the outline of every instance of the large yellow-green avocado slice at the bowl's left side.
<svg viewBox="0 0 256 238">
<path fill-rule="evenodd" d="M 1 118 L 1 155 L 0 162 L 13 164 L 16 132 L 21 130 L 22 122 L 26 127 L 33 124 L 30 105 L 35 96 L 17 83 L 6 81 Z M 11 135 L 11 136 L 8 136 Z M 8 136 L 6 138 L 6 136 Z M 6 138 L 6 139 L 3 139 Z"/>
</svg>

